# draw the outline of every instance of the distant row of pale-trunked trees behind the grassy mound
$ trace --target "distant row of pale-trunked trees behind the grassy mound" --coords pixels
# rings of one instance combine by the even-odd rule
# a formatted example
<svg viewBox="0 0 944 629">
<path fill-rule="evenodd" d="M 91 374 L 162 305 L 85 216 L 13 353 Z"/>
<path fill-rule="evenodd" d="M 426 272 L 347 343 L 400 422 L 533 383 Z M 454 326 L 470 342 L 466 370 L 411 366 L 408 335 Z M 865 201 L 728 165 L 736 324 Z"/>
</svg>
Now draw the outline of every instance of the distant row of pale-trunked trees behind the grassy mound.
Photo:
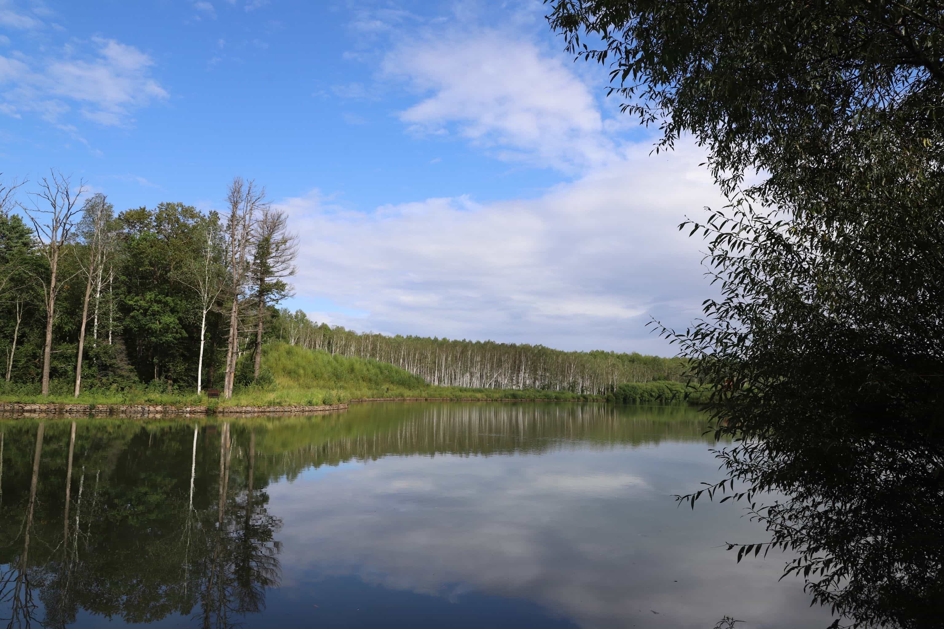
<svg viewBox="0 0 944 629">
<path fill-rule="evenodd" d="M 493 340 L 358 333 L 282 308 L 273 338 L 332 355 L 372 358 L 419 375 L 430 385 L 475 389 L 563 390 L 607 395 L 626 383 L 688 382 L 679 358 L 592 351 Z"/>
</svg>

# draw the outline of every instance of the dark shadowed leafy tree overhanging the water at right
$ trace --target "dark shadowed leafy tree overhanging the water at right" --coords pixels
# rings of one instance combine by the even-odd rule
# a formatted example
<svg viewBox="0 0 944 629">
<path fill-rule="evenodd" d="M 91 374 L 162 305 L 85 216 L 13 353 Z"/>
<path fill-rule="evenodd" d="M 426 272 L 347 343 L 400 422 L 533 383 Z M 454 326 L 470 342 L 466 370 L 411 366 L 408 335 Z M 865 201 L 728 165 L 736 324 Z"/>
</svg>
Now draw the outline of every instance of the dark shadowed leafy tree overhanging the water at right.
<svg viewBox="0 0 944 629">
<path fill-rule="evenodd" d="M 787 571 L 854 624 L 940 626 L 944 6 L 550 6 L 662 146 L 694 134 L 730 197 L 683 225 L 721 297 L 664 332 L 738 440 L 727 478 L 683 499 L 737 487 L 772 535 L 738 557 L 797 551 Z"/>
</svg>

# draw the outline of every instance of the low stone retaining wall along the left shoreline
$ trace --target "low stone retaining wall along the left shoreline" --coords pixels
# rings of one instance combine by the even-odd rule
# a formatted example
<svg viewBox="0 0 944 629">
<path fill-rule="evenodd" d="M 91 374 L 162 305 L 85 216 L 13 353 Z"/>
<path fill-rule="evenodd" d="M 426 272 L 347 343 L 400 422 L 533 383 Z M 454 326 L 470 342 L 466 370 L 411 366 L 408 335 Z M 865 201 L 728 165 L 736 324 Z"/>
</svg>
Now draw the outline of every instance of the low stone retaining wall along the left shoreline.
<svg viewBox="0 0 944 629">
<path fill-rule="evenodd" d="M 322 413 L 344 410 L 346 404 L 320 406 L 219 406 L 210 410 L 207 406 L 161 406 L 161 405 L 111 405 L 87 404 L 15 404 L 0 403 L 0 416 L 15 417 L 164 417 L 179 415 L 200 417 L 206 415 L 288 415 L 298 413 Z"/>
</svg>

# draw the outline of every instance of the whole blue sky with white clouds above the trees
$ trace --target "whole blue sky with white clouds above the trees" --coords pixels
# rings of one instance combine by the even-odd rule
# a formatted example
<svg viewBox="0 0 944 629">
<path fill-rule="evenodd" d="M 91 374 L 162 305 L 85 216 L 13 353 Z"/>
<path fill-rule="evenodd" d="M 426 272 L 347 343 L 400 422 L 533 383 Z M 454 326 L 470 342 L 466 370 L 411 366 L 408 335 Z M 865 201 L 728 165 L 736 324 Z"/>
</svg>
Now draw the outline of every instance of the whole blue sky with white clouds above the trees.
<svg viewBox="0 0 944 629">
<path fill-rule="evenodd" d="M 264 184 L 290 306 L 389 334 L 671 354 L 706 287 L 700 153 L 573 63 L 540 2 L 0 0 L 0 171 L 118 209 Z"/>
</svg>

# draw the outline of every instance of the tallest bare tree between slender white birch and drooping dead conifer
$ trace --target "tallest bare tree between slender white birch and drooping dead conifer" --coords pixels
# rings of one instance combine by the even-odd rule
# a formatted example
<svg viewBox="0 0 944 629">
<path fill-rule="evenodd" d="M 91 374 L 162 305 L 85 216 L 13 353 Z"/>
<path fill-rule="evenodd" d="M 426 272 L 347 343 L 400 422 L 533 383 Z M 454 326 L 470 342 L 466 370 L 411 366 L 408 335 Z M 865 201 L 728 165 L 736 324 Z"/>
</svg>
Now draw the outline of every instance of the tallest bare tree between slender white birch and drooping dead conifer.
<svg viewBox="0 0 944 629">
<path fill-rule="evenodd" d="M 247 251 L 252 240 L 255 216 L 261 212 L 262 208 L 268 207 L 268 202 L 265 201 L 265 189 L 257 187 L 253 180 L 244 181 L 243 177 L 234 177 L 227 190 L 227 206 L 227 262 L 231 303 L 223 396 L 229 399 L 233 394 L 236 360 L 239 357 L 240 299 L 243 297 L 245 280 L 249 271 Z"/>
</svg>

